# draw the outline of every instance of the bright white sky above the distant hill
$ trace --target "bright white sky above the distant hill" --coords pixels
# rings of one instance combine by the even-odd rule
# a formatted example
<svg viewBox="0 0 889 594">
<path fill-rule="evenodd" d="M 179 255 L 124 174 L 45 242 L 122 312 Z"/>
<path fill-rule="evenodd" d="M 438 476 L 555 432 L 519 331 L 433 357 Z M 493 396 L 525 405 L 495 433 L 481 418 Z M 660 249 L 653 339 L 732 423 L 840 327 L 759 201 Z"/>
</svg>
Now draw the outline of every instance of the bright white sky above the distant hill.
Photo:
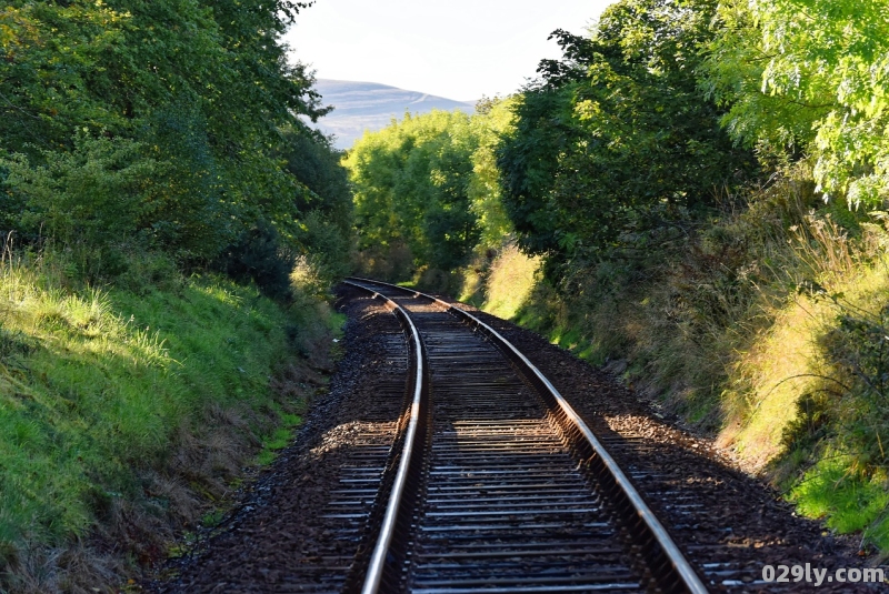
<svg viewBox="0 0 889 594">
<path fill-rule="evenodd" d="M 317 0 L 284 40 L 319 79 L 469 101 L 508 94 L 612 0 Z"/>
</svg>

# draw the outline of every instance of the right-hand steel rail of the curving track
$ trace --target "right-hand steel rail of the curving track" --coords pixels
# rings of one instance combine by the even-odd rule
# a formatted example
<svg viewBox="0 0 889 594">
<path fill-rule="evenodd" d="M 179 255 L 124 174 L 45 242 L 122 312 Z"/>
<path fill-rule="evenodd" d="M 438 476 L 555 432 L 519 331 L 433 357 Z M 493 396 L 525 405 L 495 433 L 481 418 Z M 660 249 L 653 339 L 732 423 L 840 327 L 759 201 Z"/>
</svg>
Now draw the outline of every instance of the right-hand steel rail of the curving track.
<svg viewBox="0 0 889 594">
<path fill-rule="evenodd" d="M 571 423 L 580 431 L 580 434 L 583 435 L 589 445 L 592 447 L 595 455 L 598 456 L 598 459 L 605 465 L 607 471 L 610 473 L 617 486 L 622 491 L 627 500 L 632 505 L 638 519 L 643 522 L 643 525 L 646 526 L 648 532 L 653 536 L 657 544 L 660 546 L 660 551 L 669 560 L 676 574 L 681 580 L 681 583 L 685 586 L 685 588 L 693 594 L 706 594 L 708 592 L 707 587 L 703 585 L 700 577 L 698 577 L 698 574 L 688 563 L 685 555 L 682 555 L 682 552 L 676 545 L 673 540 L 670 537 L 669 533 L 667 532 L 667 528 L 657 519 L 655 513 L 651 511 L 651 509 L 645 502 L 645 500 L 636 490 L 633 484 L 630 482 L 630 479 L 620 469 L 617 461 L 615 461 L 611 454 L 608 453 L 602 443 L 596 437 L 592 430 L 590 430 L 587 423 L 568 403 L 565 396 L 561 395 L 561 393 L 540 372 L 540 370 L 538 370 L 537 366 L 528 360 L 528 358 L 526 358 L 518 349 L 516 349 L 516 346 L 513 346 L 512 343 L 510 343 L 499 332 L 497 332 L 490 325 L 486 324 L 471 313 L 451 303 L 448 303 L 447 301 L 442 301 L 436 296 L 422 293 L 420 291 L 416 291 L 413 289 L 398 286 L 396 284 L 374 281 L 371 279 L 361 279 L 361 278 L 353 278 L 353 279 L 359 282 L 383 285 L 406 293 L 411 293 L 414 296 L 432 300 L 434 303 L 438 303 L 439 305 L 443 306 L 446 311 L 452 312 L 459 318 L 463 318 L 466 321 L 468 321 L 476 328 L 480 329 L 482 333 L 491 338 L 501 349 L 503 349 L 509 355 L 511 355 L 511 359 L 513 361 L 517 361 L 520 364 L 520 366 L 523 366 L 540 383 L 540 385 L 542 385 L 549 392 L 549 394 L 558 403 L 559 407 L 565 413 L 567 419 L 571 421 Z M 346 282 L 349 282 L 350 284 L 356 284 L 350 281 Z M 362 288 L 364 290 L 370 290 L 367 286 Z M 366 591 L 366 592 L 367 594 L 371 594 L 376 591 Z"/>
</svg>

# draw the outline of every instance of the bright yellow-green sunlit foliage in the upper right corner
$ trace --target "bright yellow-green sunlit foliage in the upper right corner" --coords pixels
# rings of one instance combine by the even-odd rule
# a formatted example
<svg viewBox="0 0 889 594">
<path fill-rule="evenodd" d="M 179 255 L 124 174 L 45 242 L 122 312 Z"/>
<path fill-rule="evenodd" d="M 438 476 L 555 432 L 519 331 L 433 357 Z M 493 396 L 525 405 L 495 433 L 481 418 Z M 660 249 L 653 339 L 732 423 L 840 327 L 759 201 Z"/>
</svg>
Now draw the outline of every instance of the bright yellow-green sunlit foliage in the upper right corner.
<svg viewBox="0 0 889 594">
<path fill-rule="evenodd" d="M 873 207 L 889 192 L 889 3 L 727 2 L 706 88 L 730 107 L 732 135 L 817 160 L 826 199 Z"/>
</svg>

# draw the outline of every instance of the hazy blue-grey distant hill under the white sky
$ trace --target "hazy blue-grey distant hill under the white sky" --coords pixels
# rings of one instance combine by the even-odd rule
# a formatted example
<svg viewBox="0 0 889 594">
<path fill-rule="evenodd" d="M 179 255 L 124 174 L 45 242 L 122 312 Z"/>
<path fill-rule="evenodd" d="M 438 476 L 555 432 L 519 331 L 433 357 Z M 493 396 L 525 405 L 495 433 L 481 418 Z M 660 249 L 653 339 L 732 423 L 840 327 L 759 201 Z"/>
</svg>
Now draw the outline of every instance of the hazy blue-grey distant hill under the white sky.
<svg viewBox="0 0 889 594">
<path fill-rule="evenodd" d="M 453 101 L 377 82 L 318 79 L 314 88 L 321 93 L 322 103 L 334 108 L 318 121 L 318 128 L 326 134 L 336 134 L 339 149 L 350 148 L 364 130 L 380 130 L 389 125 L 392 118 L 401 119 L 404 111 L 427 113 L 433 109 L 459 109 L 472 113 L 476 110 L 475 101 Z"/>
</svg>

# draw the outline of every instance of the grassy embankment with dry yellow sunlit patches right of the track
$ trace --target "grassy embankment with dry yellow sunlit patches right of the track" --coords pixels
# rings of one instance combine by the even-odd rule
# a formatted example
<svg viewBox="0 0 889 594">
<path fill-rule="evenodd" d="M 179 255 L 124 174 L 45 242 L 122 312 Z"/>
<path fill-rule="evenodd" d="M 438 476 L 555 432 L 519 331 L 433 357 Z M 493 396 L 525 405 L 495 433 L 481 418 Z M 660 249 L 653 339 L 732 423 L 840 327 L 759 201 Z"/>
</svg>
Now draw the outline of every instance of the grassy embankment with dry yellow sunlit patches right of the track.
<svg viewBox="0 0 889 594">
<path fill-rule="evenodd" d="M 880 214 L 819 207 L 807 179 L 645 260 L 575 265 L 558 291 L 507 248 L 463 271 L 460 296 L 609 364 L 800 512 L 886 553 L 889 234 Z"/>
</svg>

